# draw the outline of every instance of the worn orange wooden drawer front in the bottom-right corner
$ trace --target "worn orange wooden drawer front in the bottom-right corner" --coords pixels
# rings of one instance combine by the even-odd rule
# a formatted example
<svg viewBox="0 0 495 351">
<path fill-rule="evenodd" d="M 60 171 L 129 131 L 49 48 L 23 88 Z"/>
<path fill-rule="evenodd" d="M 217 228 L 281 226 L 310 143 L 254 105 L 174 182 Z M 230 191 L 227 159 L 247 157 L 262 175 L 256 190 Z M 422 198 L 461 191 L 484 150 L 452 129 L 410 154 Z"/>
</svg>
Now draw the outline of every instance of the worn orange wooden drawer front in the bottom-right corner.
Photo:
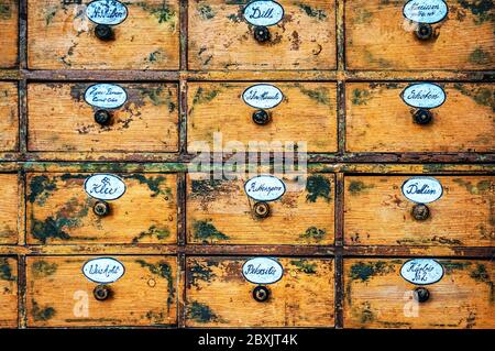
<svg viewBox="0 0 495 351">
<path fill-rule="evenodd" d="M 438 260 L 444 275 L 425 286 L 424 303 L 414 298 L 417 286 L 400 276 L 406 261 L 344 261 L 345 328 L 495 328 L 493 261 Z"/>
</svg>

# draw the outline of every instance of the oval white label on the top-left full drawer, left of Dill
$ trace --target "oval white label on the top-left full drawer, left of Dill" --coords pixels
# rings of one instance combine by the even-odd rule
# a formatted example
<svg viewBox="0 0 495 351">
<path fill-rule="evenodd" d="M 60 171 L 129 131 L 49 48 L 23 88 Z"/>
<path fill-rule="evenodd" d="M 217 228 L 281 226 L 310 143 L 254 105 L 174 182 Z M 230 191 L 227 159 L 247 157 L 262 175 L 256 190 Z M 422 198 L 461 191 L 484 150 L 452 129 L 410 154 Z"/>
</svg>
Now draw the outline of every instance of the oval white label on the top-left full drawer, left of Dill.
<svg viewBox="0 0 495 351">
<path fill-rule="evenodd" d="M 95 0 L 88 3 L 86 15 L 97 24 L 116 25 L 128 18 L 128 8 L 117 0 Z"/>
</svg>

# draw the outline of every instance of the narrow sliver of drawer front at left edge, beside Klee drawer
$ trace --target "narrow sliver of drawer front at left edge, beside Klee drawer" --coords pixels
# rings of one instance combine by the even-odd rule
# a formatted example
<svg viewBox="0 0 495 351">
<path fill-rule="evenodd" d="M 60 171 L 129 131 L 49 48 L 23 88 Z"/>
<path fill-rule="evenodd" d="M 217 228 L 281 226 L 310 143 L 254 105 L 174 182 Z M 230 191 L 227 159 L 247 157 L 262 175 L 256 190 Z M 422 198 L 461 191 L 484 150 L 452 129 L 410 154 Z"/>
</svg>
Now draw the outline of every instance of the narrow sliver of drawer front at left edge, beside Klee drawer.
<svg viewBox="0 0 495 351">
<path fill-rule="evenodd" d="M 19 177 L 0 174 L 0 244 L 16 244 L 19 240 Z"/>
</svg>

